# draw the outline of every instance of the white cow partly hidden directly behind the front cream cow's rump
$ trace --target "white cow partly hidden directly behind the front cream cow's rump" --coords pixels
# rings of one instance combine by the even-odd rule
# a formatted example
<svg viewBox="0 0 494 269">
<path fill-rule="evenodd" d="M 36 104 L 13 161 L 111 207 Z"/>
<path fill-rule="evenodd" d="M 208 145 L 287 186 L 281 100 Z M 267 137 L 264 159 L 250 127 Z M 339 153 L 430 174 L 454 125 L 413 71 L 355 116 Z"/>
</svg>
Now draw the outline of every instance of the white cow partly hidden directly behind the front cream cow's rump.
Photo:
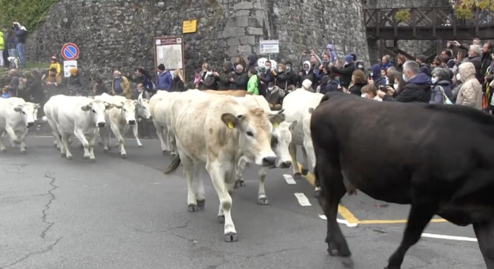
<svg viewBox="0 0 494 269">
<path fill-rule="evenodd" d="M 171 152 L 172 155 L 177 154 L 175 143 L 170 142 L 173 140 L 172 131 L 170 130 L 171 117 L 170 113 L 172 110 L 172 103 L 175 97 L 177 97 L 181 92 L 174 91 L 158 91 L 151 100 L 149 100 L 149 110 L 151 111 L 151 116 L 153 117 L 154 128 L 156 129 L 156 135 L 161 143 L 161 152 L 163 155 L 166 152 Z"/>
</svg>

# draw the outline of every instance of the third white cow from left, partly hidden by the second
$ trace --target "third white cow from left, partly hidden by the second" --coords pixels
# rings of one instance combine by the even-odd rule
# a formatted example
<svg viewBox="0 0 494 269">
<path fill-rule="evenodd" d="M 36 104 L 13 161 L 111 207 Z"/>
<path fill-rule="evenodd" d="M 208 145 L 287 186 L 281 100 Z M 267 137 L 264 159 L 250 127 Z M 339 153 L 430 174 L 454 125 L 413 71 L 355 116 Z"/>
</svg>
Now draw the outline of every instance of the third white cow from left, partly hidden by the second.
<svg viewBox="0 0 494 269">
<path fill-rule="evenodd" d="M 124 136 L 132 128 L 132 133 L 134 138 L 136 138 L 137 145 L 142 147 L 141 140 L 139 140 L 139 134 L 137 129 L 137 119 L 136 114 L 145 119 L 151 117 L 149 112 L 149 105 L 146 99 L 140 101 L 129 100 L 124 96 L 110 96 L 103 93 L 101 96 L 94 96 L 95 100 L 103 100 L 103 102 L 109 103 L 113 107 L 106 110 L 105 120 L 108 124 L 104 129 L 100 130 L 101 141 L 103 142 L 103 150 L 110 150 L 108 143 L 110 140 L 110 130 L 111 133 L 117 138 L 117 145 L 120 150 L 120 156 L 122 158 L 127 157 L 127 152 L 124 147 Z"/>
</svg>

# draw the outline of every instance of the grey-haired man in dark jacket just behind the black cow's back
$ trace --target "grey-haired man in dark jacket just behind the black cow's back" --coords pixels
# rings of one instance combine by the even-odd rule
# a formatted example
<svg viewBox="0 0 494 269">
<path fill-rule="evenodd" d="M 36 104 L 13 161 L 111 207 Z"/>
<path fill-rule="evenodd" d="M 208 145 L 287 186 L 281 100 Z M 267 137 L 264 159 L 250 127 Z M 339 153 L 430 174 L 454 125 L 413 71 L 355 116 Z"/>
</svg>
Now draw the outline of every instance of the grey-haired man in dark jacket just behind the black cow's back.
<svg viewBox="0 0 494 269">
<path fill-rule="evenodd" d="M 429 103 L 431 100 L 431 78 L 420 72 L 418 63 L 408 61 L 403 64 L 402 77 L 406 84 L 397 96 L 393 97 L 385 91 L 378 91 L 379 98 L 388 102 Z"/>
</svg>

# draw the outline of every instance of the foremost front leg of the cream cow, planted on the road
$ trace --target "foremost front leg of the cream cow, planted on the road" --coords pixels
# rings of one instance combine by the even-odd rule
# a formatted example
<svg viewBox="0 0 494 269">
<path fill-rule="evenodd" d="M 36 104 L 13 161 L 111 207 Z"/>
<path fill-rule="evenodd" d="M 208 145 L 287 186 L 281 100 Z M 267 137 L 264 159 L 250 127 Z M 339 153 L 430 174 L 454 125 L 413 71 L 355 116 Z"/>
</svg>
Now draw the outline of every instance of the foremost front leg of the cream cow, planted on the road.
<svg viewBox="0 0 494 269">
<path fill-rule="evenodd" d="M 220 210 L 218 211 L 218 220 L 222 222 L 224 220 L 224 241 L 226 242 L 236 242 L 239 240 L 236 234 L 235 225 L 232 220 L 232 197 L 227 191 L 227 186 L 225 185 L 225 176 L 227 174 L 224 171 L 222 164 L 216 160 L 213 162 L 206 163 L 206 170 L 208 170 L 213 185 L 215 186 L 216 193 L 220 198 Z"/>
</svg>

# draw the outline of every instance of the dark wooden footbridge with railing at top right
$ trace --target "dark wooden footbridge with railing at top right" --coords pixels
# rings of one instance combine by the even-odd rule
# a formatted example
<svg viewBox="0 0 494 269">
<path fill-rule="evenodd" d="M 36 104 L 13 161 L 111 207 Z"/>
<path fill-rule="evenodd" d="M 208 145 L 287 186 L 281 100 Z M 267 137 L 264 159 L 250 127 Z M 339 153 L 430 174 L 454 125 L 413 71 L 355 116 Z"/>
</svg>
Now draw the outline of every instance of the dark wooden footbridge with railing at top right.
<svg viewBox="0 0 494 269">
<path fill-rule="evenodd" d="M 472 8 L 470 19 L 455 18 L 451 6 L 424 8 L 364 8 L 364 23 L 369 41 L 379 42 L 379 55 L 398 54 L 415 59 L 398 48 L 398 40 L 433 40 L 436 46 L 422 54 L 427 60 L 441 55 L 445 41 L 494 39 L 494 12 Z M 400 20 L 397 13 L 404 11 L 409 16 Z"/>
</svg>

